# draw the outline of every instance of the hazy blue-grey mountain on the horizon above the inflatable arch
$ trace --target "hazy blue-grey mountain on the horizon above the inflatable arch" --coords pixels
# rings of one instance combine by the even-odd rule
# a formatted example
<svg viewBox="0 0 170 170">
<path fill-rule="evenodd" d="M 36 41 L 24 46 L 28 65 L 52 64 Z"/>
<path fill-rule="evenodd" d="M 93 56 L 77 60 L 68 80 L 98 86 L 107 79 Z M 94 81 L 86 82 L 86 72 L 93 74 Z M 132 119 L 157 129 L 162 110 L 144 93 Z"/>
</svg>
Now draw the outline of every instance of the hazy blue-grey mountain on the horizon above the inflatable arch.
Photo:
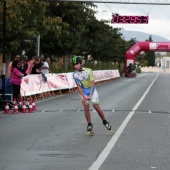
<svg viewBox="0 0 170 170">
<path fill-rule="evenodd" d="M 146 41 L 149 39 L 149 36 L 151 36 L 153 42 L 170 42 L 170 40 L 164 37 L 140 31 L 121 30 L 120 32 L 123 34 L 123 37 L 126 41 L 129 41 L 132 38 L 136 38 L 137 41 Z"/>
</svg>

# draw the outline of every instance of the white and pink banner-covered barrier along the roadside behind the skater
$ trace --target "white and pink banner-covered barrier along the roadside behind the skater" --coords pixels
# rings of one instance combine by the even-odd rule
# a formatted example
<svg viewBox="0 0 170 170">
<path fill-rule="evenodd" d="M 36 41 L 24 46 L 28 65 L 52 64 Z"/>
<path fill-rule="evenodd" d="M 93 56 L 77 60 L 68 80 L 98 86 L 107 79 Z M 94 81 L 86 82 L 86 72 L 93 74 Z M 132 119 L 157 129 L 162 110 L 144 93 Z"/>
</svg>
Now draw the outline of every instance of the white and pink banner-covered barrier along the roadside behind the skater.
<svg viewBox="0 0 170 170">
<path fill-rule="evenodd" d="M 119 78 L 118 70 L 98 70 L 93 71 L 95 83 Z M 27 75 L 23 77 L 21 83 L 21 95 L 30 97 L 39 94 L 44 98 L 45 95 L 53 95 L 54 91 L 61 93 L 61 90 L 67 89 L 70 92 L 76 88 L 72 73 L 46 74 L 47 81 L 44 82 L 41 75 Z"/>
</svg>

